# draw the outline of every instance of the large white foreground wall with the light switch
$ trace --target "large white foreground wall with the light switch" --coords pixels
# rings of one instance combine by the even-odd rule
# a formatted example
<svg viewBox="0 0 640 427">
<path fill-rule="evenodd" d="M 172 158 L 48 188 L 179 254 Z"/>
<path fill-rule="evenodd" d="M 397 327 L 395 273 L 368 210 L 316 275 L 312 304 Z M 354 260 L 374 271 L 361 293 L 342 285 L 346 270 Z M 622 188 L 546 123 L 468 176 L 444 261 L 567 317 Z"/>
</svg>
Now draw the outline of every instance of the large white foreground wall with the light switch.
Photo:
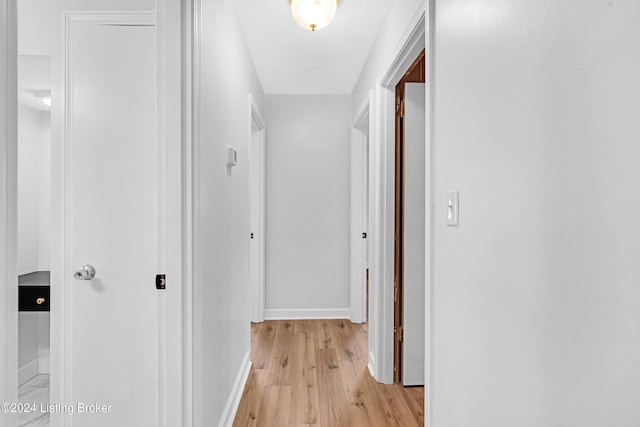
<svg viewBox="0 0 640 427">
<path fill-rule="evenodd" d="M 639 16 L 436 2 L 434 426 L 640 425 Z"/>
</svg>

